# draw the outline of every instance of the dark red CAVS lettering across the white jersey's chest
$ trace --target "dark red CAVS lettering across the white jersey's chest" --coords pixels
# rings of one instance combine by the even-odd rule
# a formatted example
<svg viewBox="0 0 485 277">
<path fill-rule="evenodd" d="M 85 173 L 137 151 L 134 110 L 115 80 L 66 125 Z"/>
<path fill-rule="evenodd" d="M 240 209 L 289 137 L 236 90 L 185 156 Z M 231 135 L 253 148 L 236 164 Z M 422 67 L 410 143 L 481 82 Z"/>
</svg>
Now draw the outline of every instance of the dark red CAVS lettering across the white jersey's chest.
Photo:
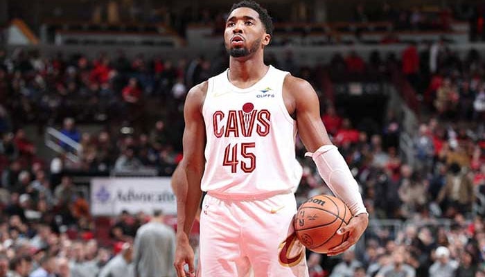
<svg viewBox="0 0 485 277">
<path fill-rule="evenodd" d="M 212 115 L 213 132 L 218 138 L 233 136 L 250 137 L 254 131 L 259 136 L 270 134 L 271 113 L 267 109 L 257 110 L 247 102 L 240 110 L 215 111 Z"/>
</svg>

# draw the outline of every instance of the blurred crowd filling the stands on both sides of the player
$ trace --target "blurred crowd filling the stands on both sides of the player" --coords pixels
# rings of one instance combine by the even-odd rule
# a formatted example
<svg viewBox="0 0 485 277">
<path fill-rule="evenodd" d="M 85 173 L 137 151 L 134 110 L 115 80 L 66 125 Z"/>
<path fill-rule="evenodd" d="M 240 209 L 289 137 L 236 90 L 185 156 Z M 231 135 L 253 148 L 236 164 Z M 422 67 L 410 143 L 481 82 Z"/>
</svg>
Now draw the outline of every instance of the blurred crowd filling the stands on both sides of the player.
<svg viewBox="0 0 485 277">
<path fill-rule="evenodd" d="M 460 58 L 442 41 L 421 51 L 409 45 L 401 54 L 381 57 L 376 52 L 365 60 L 358 53 L 342 53 L 315 67 L 300 66 L 291 53 L 282 60 L 267 56 L 268 64 L 317 89 L 321 118 L 359 181 L 371 218 L 406 222 L 405 229 L 371 224 L 364 249 L 344 254 L 342 263 L 309 255 L 313 276 L 395 276 L 389 275 L 393 271 L 448 276 L 440 273 L 445 268 L 461 272 L 456 276 L 483 274 L 484 60 L 477 51 Z M 94 240 L 96 222 L 87 195 L 70 175 L 141 168 L 170 175 L 182 159 L 184 96 L 193 84 L 222 71 L 225 60 L 221 54 L 173 64 L 123 53 L 89 60 L 0 51 L 0 276 L 7 267 L 17 271 L 8 276 L 37 270 L 51 274 L 45 276 L 96 276 L 115 255 L 130 265 L 136 230 L 148 217 L 122 213 L 109 222 L 107 240 Z M 382 123 L 355 121 L 344 106 L 327 98 L 323 81 L 328 76 L 334 84 L 382 82 L 394 71 L 409 80 L 421 99 L 423 117 L 412 134 L 410 155 L 400 145 L 402 114 L 389 111 Z M 80 124 L 100 130 L 88 132 Z M 80 143 L 80 161 L 67 158 L 74 150 L 63 143 L 64 154 L 39 157 L 28 132 L 42 134 L 46 126 Z M 297 151 L 303 157 L 301 143 Z M 329 193 L 312 163 L 301 163 L 299 201 Z"/>
</svg>

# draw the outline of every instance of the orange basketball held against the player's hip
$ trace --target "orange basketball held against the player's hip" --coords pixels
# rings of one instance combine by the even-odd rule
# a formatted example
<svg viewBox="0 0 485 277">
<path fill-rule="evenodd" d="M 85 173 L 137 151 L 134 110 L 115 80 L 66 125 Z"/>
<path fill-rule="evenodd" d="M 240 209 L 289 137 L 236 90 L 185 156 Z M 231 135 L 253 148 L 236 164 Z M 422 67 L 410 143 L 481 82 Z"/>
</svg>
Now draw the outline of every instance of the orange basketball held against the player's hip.
<svg viewBox="0 0 485 277">
<path fill-rule="evenodd" d="M 331 195 L 317 195 L 298 208 L 294 230 L 306 248 L 327 253 L 347 239 L 349 233 L 338 235 L 337 230 L 349 224 L 351 217 L 349 207 L 342 200 Z"/>
</svg>

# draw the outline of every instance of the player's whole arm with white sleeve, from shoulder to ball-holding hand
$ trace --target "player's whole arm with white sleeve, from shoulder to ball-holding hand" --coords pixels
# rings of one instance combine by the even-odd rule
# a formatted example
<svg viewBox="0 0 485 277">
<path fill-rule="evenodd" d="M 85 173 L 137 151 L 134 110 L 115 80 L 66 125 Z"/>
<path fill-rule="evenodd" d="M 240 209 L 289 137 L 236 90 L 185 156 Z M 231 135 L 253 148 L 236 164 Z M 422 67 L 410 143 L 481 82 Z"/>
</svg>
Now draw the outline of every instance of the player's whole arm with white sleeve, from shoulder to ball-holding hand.
<svg viewBox="0 0 485 277">
<path fill-rule="evenodd" d="M 305 80 L 288 75 L 283 84 L 283 99 L 290 114 L 296 116 L 301 141 L 312 152 L 310 155 L 320 176 L 354 215 L 349 225 L 339 230 L 340 234 L 349 233 L 349 238 L 340 246 L 330 249 L 327 254 L 338 255 L 358 242 L 369 224 L 369 215 L 362 202 L 359 186 L 346 161 L 328 138 L 320 118 L 317 93 L 312 86 Z"/>
</svg>

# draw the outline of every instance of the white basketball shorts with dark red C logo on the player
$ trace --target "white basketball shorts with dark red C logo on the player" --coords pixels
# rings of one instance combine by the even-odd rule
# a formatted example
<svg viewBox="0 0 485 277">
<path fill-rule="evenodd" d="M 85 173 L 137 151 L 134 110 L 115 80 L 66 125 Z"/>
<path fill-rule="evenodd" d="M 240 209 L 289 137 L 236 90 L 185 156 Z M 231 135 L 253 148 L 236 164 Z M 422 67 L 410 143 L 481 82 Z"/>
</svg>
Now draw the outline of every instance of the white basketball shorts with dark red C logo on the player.
<svg viewBox="0 0 485 277">
<path fill-rule="evenodd" d="M 263 200 L 207 194 L 200 216 L 200 277 L 308 277 L 305 247 L 292 225 L 294 195 Z"/>
</svg>

